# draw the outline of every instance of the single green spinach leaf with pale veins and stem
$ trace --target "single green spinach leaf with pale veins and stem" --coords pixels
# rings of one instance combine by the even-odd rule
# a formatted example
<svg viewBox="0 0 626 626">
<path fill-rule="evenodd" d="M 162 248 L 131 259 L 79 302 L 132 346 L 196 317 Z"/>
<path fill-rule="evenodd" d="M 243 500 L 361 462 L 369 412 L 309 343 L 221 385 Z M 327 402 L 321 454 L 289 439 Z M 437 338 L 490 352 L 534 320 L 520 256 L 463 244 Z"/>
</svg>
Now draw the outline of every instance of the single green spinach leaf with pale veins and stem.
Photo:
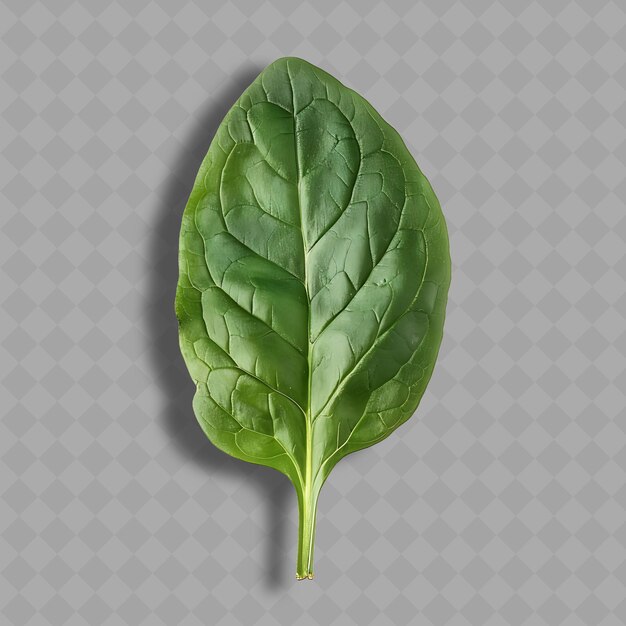
<svg viewBox="0 0 626 626">
<path fill-rule="evenodd" d="M 221 450 L 286 474 L 298 578 L 320 489 L 415 411 L 442 337 L 445 221 L 398 133 L 296 58 L 220 125 L 180 234 L 176 314 L 193 407 Z"/>
</svg>

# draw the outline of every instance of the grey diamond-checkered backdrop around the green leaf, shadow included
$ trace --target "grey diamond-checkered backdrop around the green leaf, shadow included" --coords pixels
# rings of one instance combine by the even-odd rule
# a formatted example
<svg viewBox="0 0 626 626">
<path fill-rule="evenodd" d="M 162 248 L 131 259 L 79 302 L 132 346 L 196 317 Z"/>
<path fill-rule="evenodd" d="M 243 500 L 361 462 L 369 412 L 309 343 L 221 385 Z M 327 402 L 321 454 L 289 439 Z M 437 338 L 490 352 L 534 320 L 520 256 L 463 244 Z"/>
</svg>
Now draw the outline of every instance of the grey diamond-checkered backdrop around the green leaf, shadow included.
<svg viewBox="0 0 626 626">
<path fill-rule="evenodd" d="M 1 623 L 626 622 L 626 6 L 0 3 Z M 277 473 L 203 437 L 177 230 L 274 58 L 353 86 L 444 205 L 418 415 L 322 494 L 293 580 Z"/>
</svg>

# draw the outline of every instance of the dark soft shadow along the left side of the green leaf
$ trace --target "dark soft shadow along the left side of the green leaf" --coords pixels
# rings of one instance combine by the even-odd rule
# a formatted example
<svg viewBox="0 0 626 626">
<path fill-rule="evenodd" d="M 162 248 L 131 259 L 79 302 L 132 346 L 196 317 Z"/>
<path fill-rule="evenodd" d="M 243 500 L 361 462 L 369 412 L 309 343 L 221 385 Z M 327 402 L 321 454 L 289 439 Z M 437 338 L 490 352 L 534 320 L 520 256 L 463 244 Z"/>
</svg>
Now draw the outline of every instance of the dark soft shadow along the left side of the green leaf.
<svg viewBox="0 0 626 626">
<path fill-rule="evenodd" d="M 262 494 L 266 515 L 264 549 L 265 578 L 269 588 L 284 588 L 293 564 L 289 551 L 287 513 L 295 500 L 289 481 L 275 470 L 251 466 L 213 446 L 195 420 L 191 408 L 194 385 L 187 373 L 178 346 L 174 297 L 178 279 L 178 236 L 183 209 L 196 174 L 224 115 L 262 68 L 246 66 L 219 89 L 207 110 L 193 124 L 186 139 L 172 150 L 170 173 L 158 195 L 155 223 L 149 241 L 148 293 L 145 319 L 149 355 L 165 398 L 162 424 L 181 455 L 203 467 L 207 476 L 226 475 L 252 484 Z M 169 158 L 170 155 L 168 155 Z"/>
</svg>

